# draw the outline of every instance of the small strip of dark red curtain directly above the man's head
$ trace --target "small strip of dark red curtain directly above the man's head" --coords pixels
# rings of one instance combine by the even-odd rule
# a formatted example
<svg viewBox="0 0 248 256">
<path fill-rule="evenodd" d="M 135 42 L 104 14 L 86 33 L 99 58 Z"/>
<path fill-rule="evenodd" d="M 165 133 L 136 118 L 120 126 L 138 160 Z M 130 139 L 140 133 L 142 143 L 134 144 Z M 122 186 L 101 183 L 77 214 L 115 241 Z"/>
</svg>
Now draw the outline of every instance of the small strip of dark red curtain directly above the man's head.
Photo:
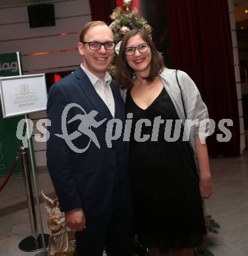
<svg viewBox="0 0 248 256">
<path fill-rule="evenodd" d="M 112 20 L 109 16 L 115 8 L 115 0 L 90 0 L 92 20 L 102 20 L 108 25 L 111 24 Z"/>
</svg>

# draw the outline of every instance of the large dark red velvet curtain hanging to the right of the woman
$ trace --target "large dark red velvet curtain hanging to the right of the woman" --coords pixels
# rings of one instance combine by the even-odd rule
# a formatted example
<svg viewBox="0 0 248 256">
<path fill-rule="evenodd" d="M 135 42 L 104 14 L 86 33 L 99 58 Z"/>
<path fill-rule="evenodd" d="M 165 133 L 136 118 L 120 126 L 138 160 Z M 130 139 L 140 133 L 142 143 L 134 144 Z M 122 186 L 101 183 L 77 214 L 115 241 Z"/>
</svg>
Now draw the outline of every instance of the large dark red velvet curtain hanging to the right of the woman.
<svg viewBox="0 0 248 256">
<path fill-rule="evenodd" d="M 216 124 L 230 118 L 234 126 L 229 142 L 218 142 L 218 127 L 209 137 L 215 157 L 239 155 L 239 117 L 232 39 L 226 0 L 167 0 L 169 54 L 173 68 L 195 81 Z"/>
</svg>

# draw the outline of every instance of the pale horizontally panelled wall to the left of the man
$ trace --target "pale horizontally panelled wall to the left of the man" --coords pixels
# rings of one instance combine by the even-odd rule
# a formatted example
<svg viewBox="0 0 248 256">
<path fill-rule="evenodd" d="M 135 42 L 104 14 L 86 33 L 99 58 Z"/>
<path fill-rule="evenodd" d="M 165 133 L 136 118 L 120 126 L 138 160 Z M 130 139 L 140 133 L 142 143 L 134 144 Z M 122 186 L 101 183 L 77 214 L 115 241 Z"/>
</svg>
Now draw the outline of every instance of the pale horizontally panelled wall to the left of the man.
<svg viewBox="0 0 248 256">
<path fill-rule="evenodd" d="M 91 20 L 89 1 L 56 0 L 46 3 L 54 3 L 56 26 L 29 28 L 27 5 L 0 8 L 0 53 L 20 51 L 24 74 L 75 70 L 82 61 L 77 51 L 77 32 Z M 56 53 L 30 55 L 48 51 Z M 29 115 L 34 122 L 44 117 L 46 112 Z M 37 167 L 45 166 L 46 143 L 33 140 L 33 145 Z"/>
</svg>

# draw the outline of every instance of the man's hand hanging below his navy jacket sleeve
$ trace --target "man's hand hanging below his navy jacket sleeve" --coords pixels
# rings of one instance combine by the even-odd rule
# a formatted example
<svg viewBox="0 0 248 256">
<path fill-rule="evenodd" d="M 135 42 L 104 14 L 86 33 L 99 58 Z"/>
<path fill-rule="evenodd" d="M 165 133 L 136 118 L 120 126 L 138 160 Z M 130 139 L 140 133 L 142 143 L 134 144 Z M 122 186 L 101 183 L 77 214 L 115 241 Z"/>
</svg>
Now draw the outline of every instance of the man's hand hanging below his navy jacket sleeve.
<svg viewBox="0 0 248 256">
<path fill-rule="evenodd" d="M 86 221 L 84 211 L 82 209 L 75 209 L 65 213 L 65 223 L 73 231 L 82 231 L 86 228 Z"/>
</svg>

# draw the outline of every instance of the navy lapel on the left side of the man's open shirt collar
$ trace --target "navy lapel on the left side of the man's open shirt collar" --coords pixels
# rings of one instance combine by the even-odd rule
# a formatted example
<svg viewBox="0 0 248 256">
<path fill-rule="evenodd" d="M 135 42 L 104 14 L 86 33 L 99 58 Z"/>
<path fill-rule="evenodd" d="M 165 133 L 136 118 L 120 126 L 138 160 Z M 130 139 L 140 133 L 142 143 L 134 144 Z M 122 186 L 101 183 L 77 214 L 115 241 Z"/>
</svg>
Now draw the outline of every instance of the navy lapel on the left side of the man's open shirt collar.
<svg viewBox="0 0 248 256">
<path fill-rule="evenodd" d="M 82 68 L 79 67 L 74 74 L 79 81 L 80 88 L 92 103 L 93 109 L 96 110 L 102 118 L 107 117 L 107 119 L 112 119 L 113 116 L 111 115 L 109 108 L 107 108 L 105 102 L 103 102 L 101 97 L 97 94 L 96 89 Z"/>
</svg>

